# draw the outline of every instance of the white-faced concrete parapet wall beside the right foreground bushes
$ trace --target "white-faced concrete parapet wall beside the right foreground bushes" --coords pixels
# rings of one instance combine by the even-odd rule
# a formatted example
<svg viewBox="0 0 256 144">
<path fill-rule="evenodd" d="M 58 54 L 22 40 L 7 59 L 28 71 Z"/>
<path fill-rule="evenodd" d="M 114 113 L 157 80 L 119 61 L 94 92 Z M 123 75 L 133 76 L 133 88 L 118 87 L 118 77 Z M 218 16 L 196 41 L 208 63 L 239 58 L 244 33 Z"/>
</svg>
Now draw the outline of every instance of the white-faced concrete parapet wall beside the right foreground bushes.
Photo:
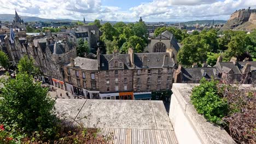
<svg viewBox="0 0 256 144">
<path fill-rule="evenodd" d="M 169 117 L 179 144 L 235 143 L 226 131 L 197 114 L 190 103 L 191 89 L 197 84 L 173 83 Z"/>
</svg>

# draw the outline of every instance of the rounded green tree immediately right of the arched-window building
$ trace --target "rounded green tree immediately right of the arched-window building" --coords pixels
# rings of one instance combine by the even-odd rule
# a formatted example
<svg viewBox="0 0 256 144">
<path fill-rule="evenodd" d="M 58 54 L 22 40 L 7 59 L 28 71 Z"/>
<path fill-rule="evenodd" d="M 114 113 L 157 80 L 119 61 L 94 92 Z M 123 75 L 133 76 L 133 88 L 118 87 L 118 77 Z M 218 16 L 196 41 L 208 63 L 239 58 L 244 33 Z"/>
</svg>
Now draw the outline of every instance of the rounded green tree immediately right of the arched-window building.
<svg viewBox="0 0 256 144">
<path fill-rule="evenodd" d="M 202 63 L 207 59 L 209 45 L 200 35 L 191 35 L 183 40 L 183 46 L 178 52 L 178 62 L 190 67 L 193 63 Z"/>
</svg>

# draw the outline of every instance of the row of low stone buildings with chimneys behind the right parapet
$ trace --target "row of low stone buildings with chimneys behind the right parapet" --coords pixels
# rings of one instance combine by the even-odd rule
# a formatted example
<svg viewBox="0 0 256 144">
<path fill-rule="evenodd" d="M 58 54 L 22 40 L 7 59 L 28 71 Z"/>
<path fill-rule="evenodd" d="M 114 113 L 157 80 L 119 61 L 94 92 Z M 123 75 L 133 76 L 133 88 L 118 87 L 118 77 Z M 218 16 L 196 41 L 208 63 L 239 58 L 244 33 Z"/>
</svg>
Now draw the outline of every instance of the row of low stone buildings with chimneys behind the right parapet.
<svg viewBox="0 0 256 144">
<path fill-rule="evenodd" d="M 236 58 L 231 58 L 230 62 L 222 62 L 222 57 L 218 58 L 216 65 L 207 67 L 183 68 L 181 65 L 173 72 L 174 83 L 199 83 L 202 78 L 206 80 L 218 80 L 221 82 L 243 84 L 253 83 L 256 80 L 256 62 L 237 62 Z"/>
</svg>

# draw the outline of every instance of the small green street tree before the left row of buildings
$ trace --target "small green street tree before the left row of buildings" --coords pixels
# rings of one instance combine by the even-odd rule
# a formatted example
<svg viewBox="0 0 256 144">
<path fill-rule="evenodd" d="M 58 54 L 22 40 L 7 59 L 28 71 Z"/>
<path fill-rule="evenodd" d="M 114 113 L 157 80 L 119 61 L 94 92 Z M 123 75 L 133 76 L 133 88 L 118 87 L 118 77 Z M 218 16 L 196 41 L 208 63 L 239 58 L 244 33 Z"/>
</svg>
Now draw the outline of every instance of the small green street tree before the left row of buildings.
<svg viewBox="0 0 256 144">
<path fill-rule="evenodd" d="M 28 75 L 37 75 L 39 74 L 39 69 L 34 65 L 34 59 L 24 56 L 20 59 L 18 63 L 19 73 L 27 73 Z"/>
</svg>

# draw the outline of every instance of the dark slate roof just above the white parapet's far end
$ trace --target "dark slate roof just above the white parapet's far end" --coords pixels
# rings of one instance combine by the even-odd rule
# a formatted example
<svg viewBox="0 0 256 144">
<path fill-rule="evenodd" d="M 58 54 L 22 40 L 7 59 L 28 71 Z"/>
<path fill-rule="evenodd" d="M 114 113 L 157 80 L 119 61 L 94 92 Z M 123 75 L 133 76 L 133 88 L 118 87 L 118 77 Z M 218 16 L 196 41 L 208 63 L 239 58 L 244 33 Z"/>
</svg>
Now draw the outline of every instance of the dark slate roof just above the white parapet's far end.
<svg viewBox="0 0 256 144">
<path fill-rule="evenodd" d="M 220 79 L 220 77 L 215 76 L 214 71 L 216 71 L 216 68 L 214 67 L 183 68 L 183 81 L 198 81 L 201 80 L 203 77 L 205 77 L 206 79 L 211 79 L 212 76 L 214 77 L 214 79 Z M 203 72 L 206 73 L 205 76 L 203 76 Z"/>
</svg>

